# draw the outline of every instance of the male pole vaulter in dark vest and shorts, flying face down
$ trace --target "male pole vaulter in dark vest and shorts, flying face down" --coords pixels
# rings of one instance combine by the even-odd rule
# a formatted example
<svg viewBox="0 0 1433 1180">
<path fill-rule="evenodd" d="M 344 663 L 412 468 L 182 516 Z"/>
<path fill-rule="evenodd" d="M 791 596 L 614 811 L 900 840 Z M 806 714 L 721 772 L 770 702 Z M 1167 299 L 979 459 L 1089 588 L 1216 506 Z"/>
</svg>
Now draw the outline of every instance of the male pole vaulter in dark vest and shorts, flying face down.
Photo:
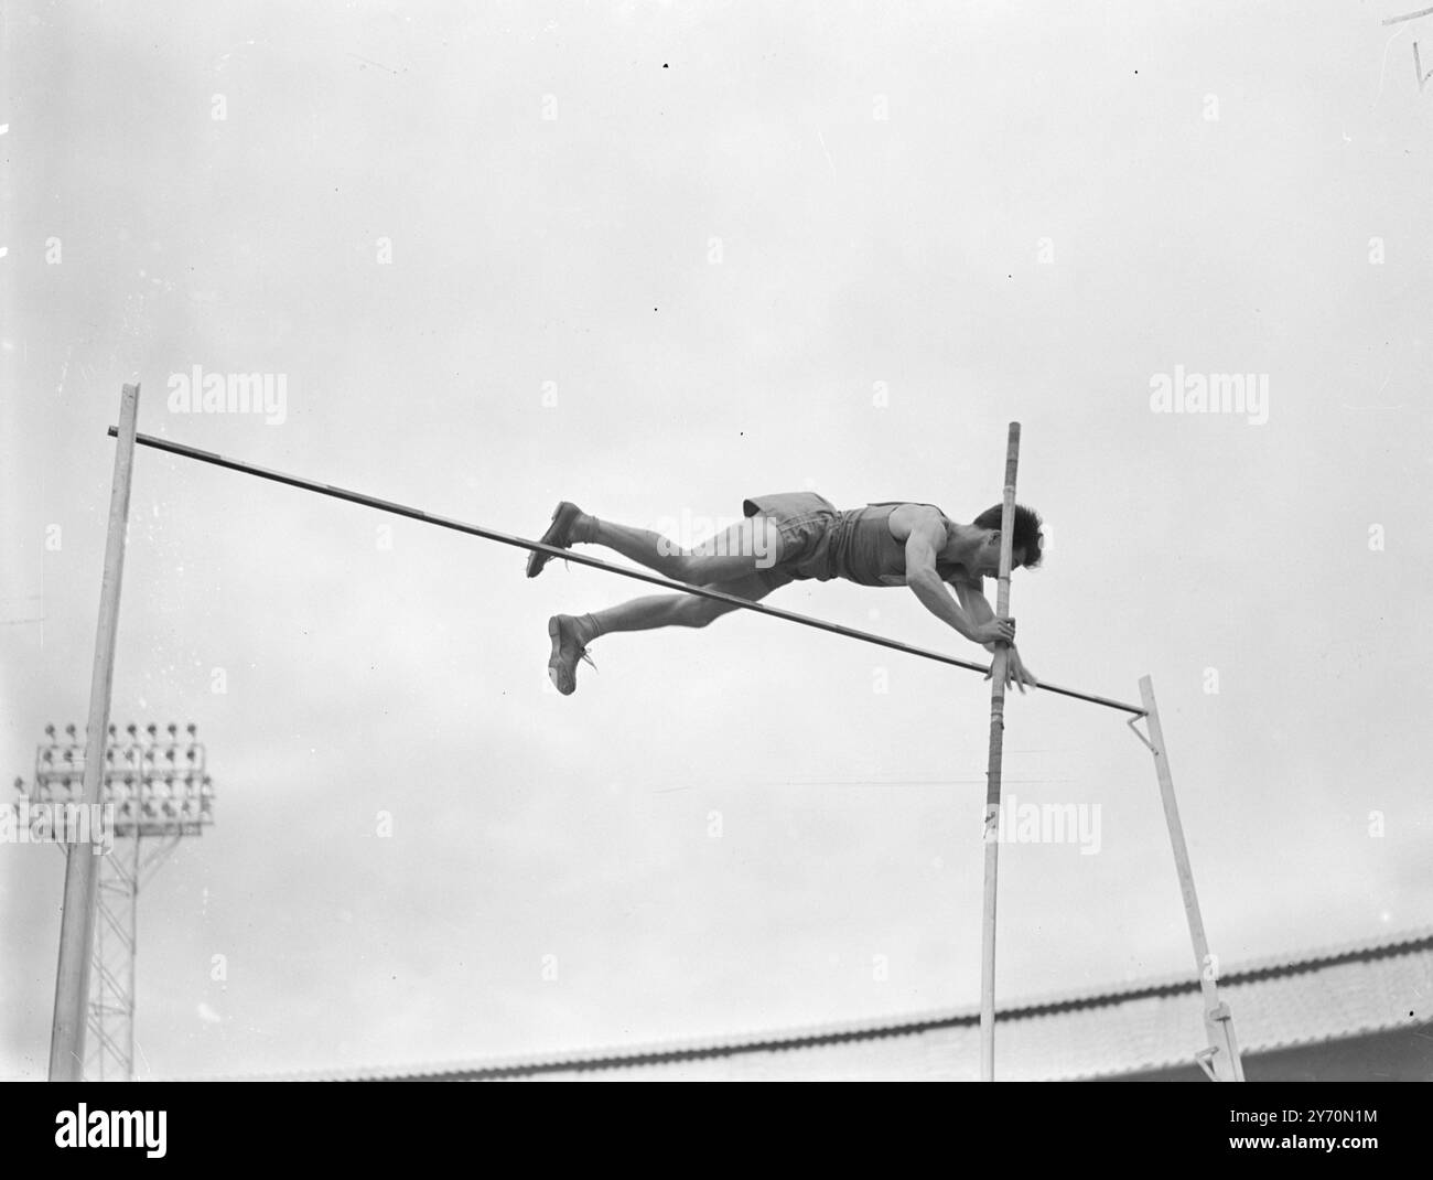
<svg viewBox="0 0 1433 1180">
<path fill-rule="evenodd" d="M 682 549 L 661 533 L 599 520 L 563 500 L 542 543 L 563 549 L 603 545 L 666 578 L 751 602 L 808 578 L 910 586 L 927 611 L 972 642 L 989 651 L 997 641 L 1010 644 L 1007 684 L 1022 693 L 1037 684 L 1015 650 L 1015 619 L 996 618 L 982 589 L 982 579 L 997 576 L 1000 569 L 999 505 L 969 525 L 929 503 L 873 503 L 840 512 L 814 492 L 755 496 L 742 509 L 739 523 L 694 549 Z M 1040 543 L 1039 515 L 1016 508 L 1010 568 L 1039 565 Z M 529 553 L 527 576 L 536 578 L 549 561 L 549 553 Z M 547 621 L 547 674 L 557 691 L 569 695 L 577 687 L 577 661 L 586 658 L 588 645 L 599 635 L 705 627 L 735 609 L 729 602 L 689 594 L 655 594 L 588 615 L 553 615 Z"/>
</svg>

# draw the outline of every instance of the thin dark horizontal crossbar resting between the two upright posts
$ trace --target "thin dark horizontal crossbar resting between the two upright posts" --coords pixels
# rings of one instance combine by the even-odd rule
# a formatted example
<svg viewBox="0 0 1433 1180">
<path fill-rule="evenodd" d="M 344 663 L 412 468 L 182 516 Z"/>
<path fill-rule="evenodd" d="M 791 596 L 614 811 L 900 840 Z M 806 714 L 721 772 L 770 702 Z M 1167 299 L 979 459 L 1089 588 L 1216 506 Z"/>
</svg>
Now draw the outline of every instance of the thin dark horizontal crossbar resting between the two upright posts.
<svg viewBox="0 0 1433 1180">
<path fill-rule="evenodd" d="M 110 437 L 118 437 L 119 429 L 115 426 L 109 427 L 109 434 Z M 768 606 L 764 602 L 752 602 L 751 599 L 738 598 L 734 594 L 725 594 L 708 586 L 692 586 L 686 582 L 675 582 L 671 578 L 662 578 L 658 574 L 646 574 L 641 569 L 612 565 L 610 562 L 600 561 L 599 558 L 575 553 L 572 549 L 559 549 L 553 545 L 543 545 L 537 541 L 526 541 L 524 538 L 512 536 L 509 533 L 497 532 L 496 529 L 484 529 L 480 525 L 469 525 L 463 520 L 453 520 L 447 516 L 434 516 L 430 512 L 394 503 L 393 500 L 381 500 L 377 496 L 365 496 L 363 492 L 350 492 L 345 487 L 334 487 L 331 483 L 317 483 L 311 479 L 285 475 L 284 472 L 259 467 L 254 463 L 241 463 L 238 459 L 225 459 L 222 455 L 215 455 L 209 450 L 199 450 L 196 447 L 185 446 L 183 443 L 172 443 L 168 439 L 159 439 L 153 434 L 136 434 L 135 442 L 139 446 L 165 450 L 169 455 L 178 455 L 183 459 L 193 459 L 199 463 L 209 463 L 211 466 L 225 467 L 231 472 L 242 472 L 244 475 L 258 476 L 259 479 L 268 479 L 274 483 L 285 483 L 289 487 L 301 487 L 305 492 L 317 492 L 320 496 L 331 496 L 335 500 L 348 500 L 350 503 L 364 505 L 365 508 L 375 508 L 380 512 L 388 512 L 394 516 L 406 516 L 410 520 L 421 520 L 427 525 L 437 525 L 440 529 L 451 529 L 454 532 L 467 533 L 469 536 L 480 536 L 484 541 L 496 541 L 499 545 L 512 545 L 513 548 L 529 549 L 535 553 L 547 553 L 553 558 L 562 558 L 562 561 L 590 566 L 592 569 L 603 569 L 608 574 L 616 574 L 622 578 L 632 578 L 638 582 L 648 582 L 653 586 L 665 586 L 666 589 L 678 591 L 681 594 L 692 594 L 698 598 L 711 598 L 715 602 L 727 602 L 732 606 L 739 606 L 744 611 L 755 611 L 758 615 L 770 615 L 771 618 L 785 619 L 787 622 L 798 622 L 802 627 L 814 627 L 818 631 L 830 631 L 833 635 L 844 635 L 848 639 L 860 639 L 864 644 L 876 644 L 877 647 L 890 648 L 891 651 L 903 651 L 907 655 L 919 655 L 921 660 L 933 660 L 937 664 L 949 664 L 954 668 L 980 672 L 982 675 L 989 671 L 984 664 L 974 664 L 969 660 L 957 660 L 954 655 L 944 655 L 939 651 L 927 651 L 926 648 L 911 647 L 910 644 L 903 644 L 898 639 L 887 639 L 884 635 L 873 635 L 868 631 L 857 631 L 851 627 L 841 627 L 837 622 L 825 622 L 824 619 L 798 615 L 792 611 L 782 611 L 778 606 Z M 1105 705 L 1108 708 L 1118 708 L 1123 713 L 1132 713 L 1136 717 L 1145 715 L 1145 710 L 1139 705 L 1125 704 L 1123 701 L 1115 701 L 1109 697 L 1096 697 L 1091 693 L 1078 693 L 1073 688 L 1060 688 L 1058 684 L 1046 684 L 1042 681 L 1040 691 L 1055 693 L 1060 697 L 1073 697 L 1075 700 L 1089 701 L 1091 704 Z"/>
</svg>

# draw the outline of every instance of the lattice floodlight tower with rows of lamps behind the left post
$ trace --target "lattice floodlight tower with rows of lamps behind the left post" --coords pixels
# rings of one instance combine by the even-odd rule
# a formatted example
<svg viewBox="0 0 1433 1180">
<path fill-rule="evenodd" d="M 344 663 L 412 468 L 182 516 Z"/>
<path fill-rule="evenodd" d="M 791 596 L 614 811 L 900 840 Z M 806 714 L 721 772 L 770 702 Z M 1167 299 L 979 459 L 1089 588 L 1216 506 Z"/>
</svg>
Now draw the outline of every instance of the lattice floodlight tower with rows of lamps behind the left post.
<svg viewBox="0 0 1433 1180">
<path fill-rule="evenodd" d="M 178 725 L 165 734 L 158 725 L 126 725 L 128 738 L 109 727 L 100 801 L 113 847 L 99 857 L 99 899 L 95 943 L 90 948 L 89 1031 L 85 1052 L 87 1081 L 135 1080 L 135 935 L 139 888 L 179 840 L 199 836 L 214 823 L 214 783 L 205 771 L 205 750 Z M 16 779 L 32 813 L 59 816 L 80 807 L 85 780 L 85 734 L 66 725 L 56 736 L 44 727 L 34 756 L 34 783 Z M 73 829 L 69 829 L 73 830 Z M 66 856 L 90 856 L 87 844 L 60 844 Z"/>
</svg>

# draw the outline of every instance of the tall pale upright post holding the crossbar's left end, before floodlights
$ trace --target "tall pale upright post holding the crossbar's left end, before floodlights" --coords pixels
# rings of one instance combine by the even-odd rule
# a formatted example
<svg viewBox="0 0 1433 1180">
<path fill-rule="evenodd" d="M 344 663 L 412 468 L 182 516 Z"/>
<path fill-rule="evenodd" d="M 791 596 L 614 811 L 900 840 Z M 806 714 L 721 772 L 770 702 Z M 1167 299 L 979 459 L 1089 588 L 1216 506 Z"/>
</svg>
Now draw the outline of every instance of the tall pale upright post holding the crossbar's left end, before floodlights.
<svg viewBox="0 0 1433 1180">
<path fill-rule="evenodd" d="M 109 533 L 105 539 L 105 575 L 99 591 L 99 628 L 90 675 L 89 725 L 85 731 L 82 801 L 86 809 L 102 801 L 100 790 L 105 783 L 109 695 L 115 684 L 119 586 L 125 574 L 125 530 L 129 523 L 138 417 L 139 386 L 125 386 L 119 403 L 119 443 L 115 447 L 115 482 L 109 495 Z M 93 810 L 90 814 L 95 814 Z M 99 880 L 96 849 L 97 844 L 73 843 L 64 856 L 64 909 L 60 915 L 60 962 L 54 974 L 50 1081 L 85 1080 L 85 1028 L 89 1018 L 90 951 L 95 945 L 95 892 Z"/>
</svg>

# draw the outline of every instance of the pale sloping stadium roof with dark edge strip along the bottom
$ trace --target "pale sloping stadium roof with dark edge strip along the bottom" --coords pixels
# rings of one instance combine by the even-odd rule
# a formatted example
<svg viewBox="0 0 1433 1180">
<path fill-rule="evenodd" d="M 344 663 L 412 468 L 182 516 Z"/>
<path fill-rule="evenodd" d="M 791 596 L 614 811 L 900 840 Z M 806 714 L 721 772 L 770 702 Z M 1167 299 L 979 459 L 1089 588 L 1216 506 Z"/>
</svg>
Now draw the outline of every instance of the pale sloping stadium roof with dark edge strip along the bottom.
<svg viewBox="0 0 1433 1180">
<path fill-rule="evenodd" d="M 1433 928 L 1244 963 L 1219 979 L 1245 1055 L 1433 1018 Z M 1189 1065 L 1207 1044 L 1192 974 L 1035 998 L 997 1017 L 999 1075 L 1075 1081 Z M 678 1078 L 974 1080 L 979 1008 L 747 1035 L 489 1057 L 430 1065 L 320 1070 L 285 1081 Z"/>
</svg>

